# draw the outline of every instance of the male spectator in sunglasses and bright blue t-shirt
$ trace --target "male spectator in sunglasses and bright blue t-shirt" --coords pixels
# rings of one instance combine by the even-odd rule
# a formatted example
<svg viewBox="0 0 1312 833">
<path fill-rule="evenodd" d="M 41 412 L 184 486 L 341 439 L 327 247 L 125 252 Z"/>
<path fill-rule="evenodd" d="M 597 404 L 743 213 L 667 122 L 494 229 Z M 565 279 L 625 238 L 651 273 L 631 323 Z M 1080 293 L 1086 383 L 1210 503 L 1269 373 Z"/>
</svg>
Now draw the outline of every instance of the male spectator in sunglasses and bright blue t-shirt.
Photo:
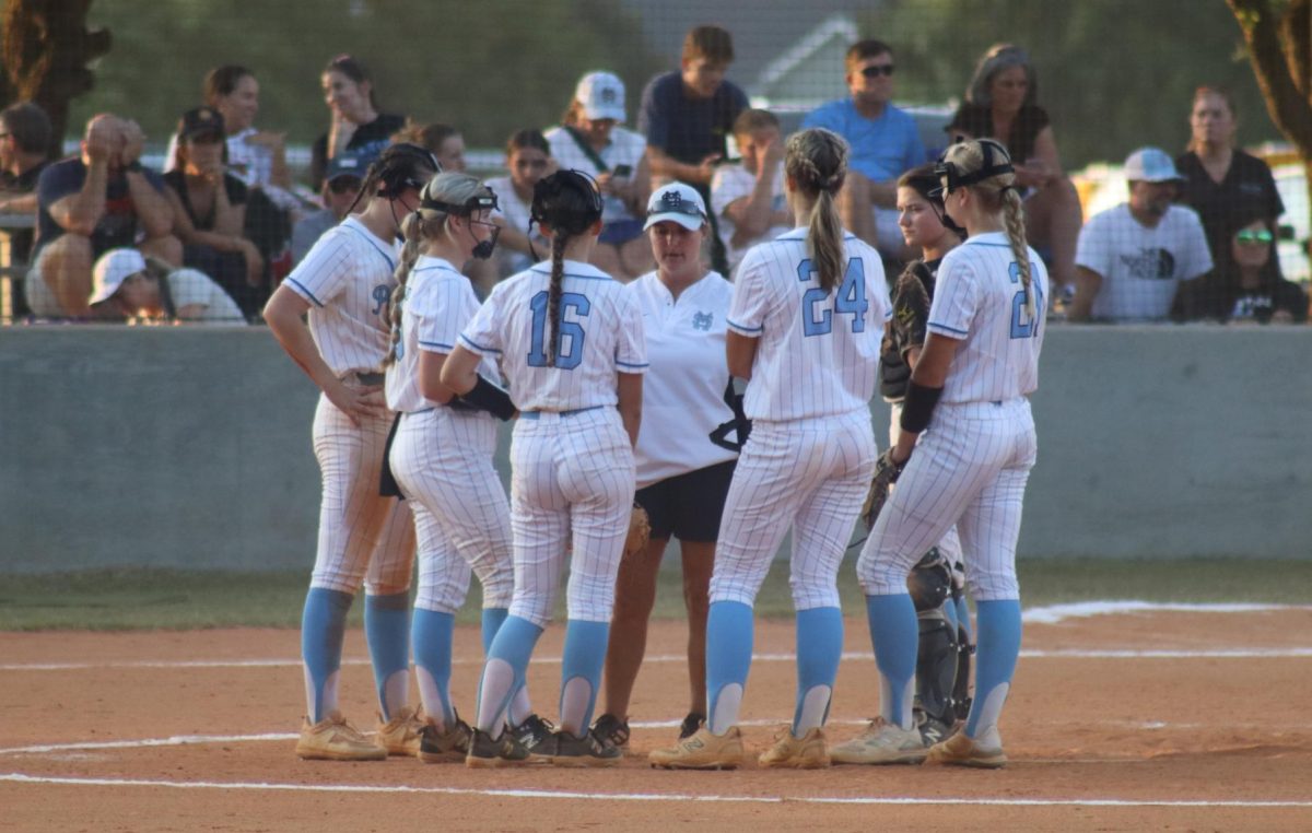
<svg viewBox="0 0 1312 833">
<path fill-rule="evenodd" d="M 816 108 L 803 127 L 825 127 L 851 146 L 848 182 L 840 195 L 842 224 L 884 257 L 911 260 L 897 227 L 897 177 L 925 163 L 925 144 L 905 110 L 892 105 L 893 51 L 883 41 L 859 41 L 848 50 L 851 96 Z"/>
</svg>

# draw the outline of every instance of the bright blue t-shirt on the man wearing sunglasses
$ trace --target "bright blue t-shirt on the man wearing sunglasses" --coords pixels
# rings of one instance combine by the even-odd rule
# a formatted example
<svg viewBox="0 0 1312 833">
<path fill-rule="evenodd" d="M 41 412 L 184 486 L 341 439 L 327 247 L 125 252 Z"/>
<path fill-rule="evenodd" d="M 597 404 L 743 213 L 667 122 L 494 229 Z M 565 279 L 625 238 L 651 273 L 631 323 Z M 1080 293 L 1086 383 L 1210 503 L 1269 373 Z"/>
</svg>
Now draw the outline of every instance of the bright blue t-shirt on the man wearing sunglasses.
<svg viewBox="0 0 1312 833">
<path fill-rule="evenodd" d="M 849 167 L 875 182 L 896 180 L 926 161 L 916 119 L 891 104 L 879 118 L 866 118 L 850 97 L 840 98 L 808 113 L 802 126 L 824 127 L 846 139 L 851 146 Z"/>
</svg>

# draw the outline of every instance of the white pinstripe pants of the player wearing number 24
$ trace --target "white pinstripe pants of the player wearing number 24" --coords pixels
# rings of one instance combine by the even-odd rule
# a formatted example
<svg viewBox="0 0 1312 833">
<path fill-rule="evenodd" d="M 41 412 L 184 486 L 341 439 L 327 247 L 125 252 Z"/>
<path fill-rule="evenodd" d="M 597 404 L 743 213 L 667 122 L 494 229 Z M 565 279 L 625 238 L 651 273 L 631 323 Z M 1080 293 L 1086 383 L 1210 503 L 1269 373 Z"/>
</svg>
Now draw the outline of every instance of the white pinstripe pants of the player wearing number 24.
<svg viewBox="0 0 1312 833">
<path fill-rule="evenodd" d="M 838 567 L 875 457 L 865 408 L 789 422 L 756 420 L 724 501 L 711 602 L 752 605 L 791 526 L 794 606 L 837 607 Z"/>
</svg>

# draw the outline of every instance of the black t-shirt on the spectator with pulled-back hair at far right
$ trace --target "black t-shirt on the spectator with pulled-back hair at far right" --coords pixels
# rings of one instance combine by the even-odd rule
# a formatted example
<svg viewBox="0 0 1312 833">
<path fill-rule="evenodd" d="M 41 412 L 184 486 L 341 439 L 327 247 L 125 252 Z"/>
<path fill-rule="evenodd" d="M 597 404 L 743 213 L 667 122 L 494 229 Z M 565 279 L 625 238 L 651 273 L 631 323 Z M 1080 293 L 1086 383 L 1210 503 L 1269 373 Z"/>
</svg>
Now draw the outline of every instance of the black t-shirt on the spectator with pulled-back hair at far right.
<svg viewBox="0 0 1312 833">
<path fill-rule="evenodd" d="M 1235 151 L 1229 171 L 1220 182 L 1212 181 L 1198 153 L 1190 151 L 1176 159 L 1176 168 L 1185 181 L 1179 185 L 1179 202 L 1198 211 L 1212 249 L 1212 261 L 1221 262 L 1229 245 L 1229 232 L 1240 213 L 1257 209 L 1262 216 L 1275 219 L 1284 214 L 1275 177 L 1266 163 L 1244 151 Z"/>
</svg>

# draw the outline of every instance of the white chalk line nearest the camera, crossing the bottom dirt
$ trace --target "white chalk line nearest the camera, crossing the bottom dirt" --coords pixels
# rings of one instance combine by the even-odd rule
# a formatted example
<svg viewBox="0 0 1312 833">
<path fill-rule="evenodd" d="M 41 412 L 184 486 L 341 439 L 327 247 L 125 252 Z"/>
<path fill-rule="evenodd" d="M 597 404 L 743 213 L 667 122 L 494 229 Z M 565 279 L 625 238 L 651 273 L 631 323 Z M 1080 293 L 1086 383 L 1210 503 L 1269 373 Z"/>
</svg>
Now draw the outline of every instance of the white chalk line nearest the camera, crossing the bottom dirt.
<svg viewBox="0 0 1312 833">
<path fill-rule="evenodd" d="M 712 777 L 714 778 L 714 777 Z M 1013 799 L 1013 798 L 908 798 L 840 795 L 697 795 L 690 792 L 579 792 L 573 790 L 488 790 L 472 787 L 411 787 L 403 784 L 294 784 L 270 782 L 156 781 L 146 778 L 68 778 L 0 773 L 0 782 L 77 787 L 165 787 L 173 790 L 256 790 L 283 792 L 363 792 L 464 795 L 478 798 L 565 799 L 584 802 L 703 802 L 723 804 L 849 804 L 849 805 L 958 805 L 958 807 L 1199 807 L 1199 808 L 1307 808 L 1298 800 L 1179 800 L 1179 799 Z"/>
</svg>

